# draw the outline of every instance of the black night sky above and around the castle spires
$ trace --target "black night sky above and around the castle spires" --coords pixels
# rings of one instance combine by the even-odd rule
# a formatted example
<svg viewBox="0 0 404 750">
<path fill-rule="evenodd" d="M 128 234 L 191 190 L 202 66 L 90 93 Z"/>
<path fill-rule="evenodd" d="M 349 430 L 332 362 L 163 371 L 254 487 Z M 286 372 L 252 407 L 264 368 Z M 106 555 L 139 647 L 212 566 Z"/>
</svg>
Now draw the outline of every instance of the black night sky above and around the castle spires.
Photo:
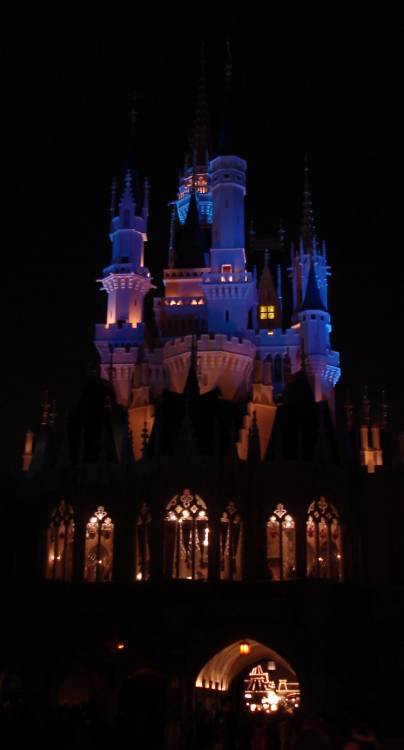
<svg viewBox="0 0 404 750">
<path fill-rule="evenodd" d="M 44 388 L 63 416 L 93 361 L 93 325 L 103 321 L 105 304 L 95 279 L 109 257 L 109 191 L 129 150 L 131 92 L 136 160 L 151 182 L 146 262 L 157 275 L 166 258 L 166 204 L 192 126 L 201 34 L 187 35 L 172 17 L 170 33 L 150 19 L 108 30 L 103 20 L 104 32 L 90 33 L 72 19 L 71 28 L 50 19 L 52 34 L 31 33 L 27 21 L 25 31 L 10 28 L 6 42 L 6 469 L 20 461 L 24 430 L 38 425 Z M 326 16 L 291 20 L 285 11 L 265 22 L 215 24 L 203 35 L 213 130 L 231 41 L 247 208 L 257 232 L 270 234 L 282 216 L 288 239 L 295 238 L 307 149 L 318 235 L 333 269 L 340 387 L 351 383 L 355 395 L 364 383 L 371 395 L 386 387 L 397 415 L 404 371 L 400 19 L 348 24 Z"/>
</svg>

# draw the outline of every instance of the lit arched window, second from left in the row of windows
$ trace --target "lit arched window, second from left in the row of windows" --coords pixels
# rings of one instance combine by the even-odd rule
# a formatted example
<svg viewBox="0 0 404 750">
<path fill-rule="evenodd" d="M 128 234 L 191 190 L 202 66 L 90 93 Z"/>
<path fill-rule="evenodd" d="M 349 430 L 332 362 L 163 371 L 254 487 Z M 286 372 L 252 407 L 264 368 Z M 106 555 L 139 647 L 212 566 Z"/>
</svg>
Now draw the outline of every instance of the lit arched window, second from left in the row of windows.
<svg viewBox="0 0 404 750">
<path fill-rule="evenodd" d="M 99 505 L 86 526 L 84 580 L 111 581 L 114 552 L 114 524 Z"/>
</svg>

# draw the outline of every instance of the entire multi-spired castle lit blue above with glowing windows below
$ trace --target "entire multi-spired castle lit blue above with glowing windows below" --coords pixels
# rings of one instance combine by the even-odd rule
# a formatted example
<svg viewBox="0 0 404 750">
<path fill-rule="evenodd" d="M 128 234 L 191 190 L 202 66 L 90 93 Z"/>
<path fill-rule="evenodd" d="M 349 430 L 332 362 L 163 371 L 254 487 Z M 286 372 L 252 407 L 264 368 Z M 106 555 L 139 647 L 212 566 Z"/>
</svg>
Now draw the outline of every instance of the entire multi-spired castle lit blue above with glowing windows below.
<svg viewBox="0 0 404 750">
<path fill-rule="evenodd" d="M 151 721 L 158 705 L 186 723 L 269 659 L 306 711 L 370 706 L 394 722 L 403 456 L 383 400 L 346 403 L 337 438 L 307 162 L 298 245 L 276 268 L 268 248 L 257 273 L 247 164 L 228 118 L 212 158 L 202 89 L 152 321 L 149 185 L 129 169 L 100 279 L 100 372 L 65 424 L 45 399 L 26 435 L 7 506 L 5 684 L 18 674 L 41 706 L 91 699 L 111 720 L 120 707 Z"/>
</svg>

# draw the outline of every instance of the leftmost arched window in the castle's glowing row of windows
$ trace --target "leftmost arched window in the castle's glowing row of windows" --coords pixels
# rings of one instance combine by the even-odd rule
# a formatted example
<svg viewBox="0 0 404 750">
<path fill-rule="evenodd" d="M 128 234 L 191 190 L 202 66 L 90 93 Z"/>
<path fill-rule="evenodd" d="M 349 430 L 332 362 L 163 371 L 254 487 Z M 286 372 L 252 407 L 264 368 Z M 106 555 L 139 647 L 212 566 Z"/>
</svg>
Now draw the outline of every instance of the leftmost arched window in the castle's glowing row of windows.
<svg viewBox="0 0 404 750">
<path fill-rule="evenodd" d="M 53 511 L 47 532 L 46 578 L 71 581 L 73 572 L 74 516 L 71 505 L 61 500 Z"/>
</svg>

